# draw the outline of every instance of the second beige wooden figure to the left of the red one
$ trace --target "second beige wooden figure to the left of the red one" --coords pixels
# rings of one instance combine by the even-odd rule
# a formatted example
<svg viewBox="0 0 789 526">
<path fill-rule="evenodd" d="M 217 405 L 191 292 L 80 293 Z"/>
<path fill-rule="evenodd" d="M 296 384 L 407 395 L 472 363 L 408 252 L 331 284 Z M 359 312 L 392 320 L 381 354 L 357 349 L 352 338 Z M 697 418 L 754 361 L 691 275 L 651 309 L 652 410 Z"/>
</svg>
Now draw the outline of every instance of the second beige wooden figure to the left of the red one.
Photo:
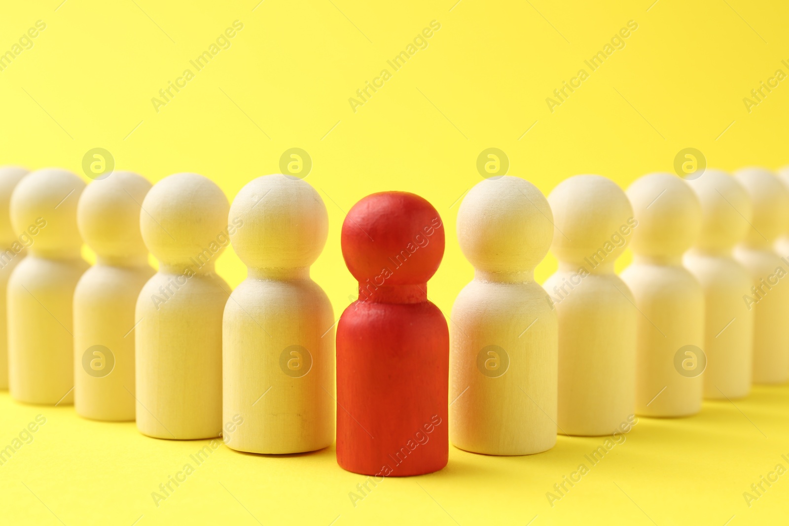
<svg viewBox="0 0 789 526">
<path fill-rule="evenodd" d="M 222 311 L 215 274 L 230 243 L 222 190 L 196 173 L 151 188 L 140 230 L 159 271 L 137 298 L 137 428 L 156 438 L 212 438 L 222 429 Z"/>
</svg>

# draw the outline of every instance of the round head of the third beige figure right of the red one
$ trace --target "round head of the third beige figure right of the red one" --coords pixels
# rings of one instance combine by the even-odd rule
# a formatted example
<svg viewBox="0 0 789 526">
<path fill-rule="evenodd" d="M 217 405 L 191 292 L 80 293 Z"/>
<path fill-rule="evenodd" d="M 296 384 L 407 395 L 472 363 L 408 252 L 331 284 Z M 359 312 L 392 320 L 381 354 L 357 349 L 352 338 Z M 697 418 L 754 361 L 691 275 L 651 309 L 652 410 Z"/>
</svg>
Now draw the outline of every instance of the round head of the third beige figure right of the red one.
<svg viewBox="0 0 789 526">
<path fill-rule="evenodd" d="M 649 173 L 626 193 L 638 221 L 630 244 L 635 254 L 676 258 L 697 241 L 701 203 L 684 179 L 671 173 Z"/>
</svg>

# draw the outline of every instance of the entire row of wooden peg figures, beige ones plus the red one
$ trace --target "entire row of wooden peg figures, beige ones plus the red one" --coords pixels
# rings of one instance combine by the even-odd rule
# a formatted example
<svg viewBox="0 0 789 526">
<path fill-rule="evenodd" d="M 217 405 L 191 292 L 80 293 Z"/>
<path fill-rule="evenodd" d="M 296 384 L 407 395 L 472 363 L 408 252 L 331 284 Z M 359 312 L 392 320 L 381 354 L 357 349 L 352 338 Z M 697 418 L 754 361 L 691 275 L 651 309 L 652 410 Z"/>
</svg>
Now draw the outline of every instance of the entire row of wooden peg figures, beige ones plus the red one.
<svg viewBox="0 0 789 526">
<path fill-rule="evenodd" d="M 443 468 L 450 439 L 538 453 L 557 430 L 611 435 L 633 413 L 692 415 L 702 397 L 786 382 L 787 188 L 789 172 L 762 169 L 653 173 L 627 192 L 581 175 L 547 200 L 522 178 L 481 181 L 458 211 L 475 274 L 451 330 L 427 299 L 438 212 L 411 193 L 372 194 L 342 225 L 359 299 L 336 323 L 335 353 L 331 304 L 309 276 L 327 211 L 307 182 L 258 177 L 229 205 L 194 173 L 86 187 L 65 170 L 6 168 L 0 381 L 19 401 L 73 401 L 144 435 L 222 435 L 254 453 L 330 446 L 336 408 L 338 463 L 374 476 Z M 233 291 L 214 271 L 230 242 L 249 267 Z M 541 287 L 533 270 L 549 248 L 559 270 Z"/>
</svg>

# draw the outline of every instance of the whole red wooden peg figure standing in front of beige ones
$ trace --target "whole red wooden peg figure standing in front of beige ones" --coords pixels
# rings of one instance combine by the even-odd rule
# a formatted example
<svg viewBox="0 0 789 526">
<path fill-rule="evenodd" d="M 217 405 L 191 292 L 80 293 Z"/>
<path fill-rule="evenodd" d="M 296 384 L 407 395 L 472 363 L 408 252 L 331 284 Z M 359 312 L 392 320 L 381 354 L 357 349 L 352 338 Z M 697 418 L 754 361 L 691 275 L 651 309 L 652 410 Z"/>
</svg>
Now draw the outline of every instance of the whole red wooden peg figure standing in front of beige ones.
<svg viewBox="0 0 789 526">
<path fill-rule="evenodd" d="M 430 203 L 382 192 L 342 225 L 342 255 L 359 300 L 337 325 L 337 462 L 372 476 L 447 465 L 447 321 L 427 299 L 443 224 Z"/>
</svg>

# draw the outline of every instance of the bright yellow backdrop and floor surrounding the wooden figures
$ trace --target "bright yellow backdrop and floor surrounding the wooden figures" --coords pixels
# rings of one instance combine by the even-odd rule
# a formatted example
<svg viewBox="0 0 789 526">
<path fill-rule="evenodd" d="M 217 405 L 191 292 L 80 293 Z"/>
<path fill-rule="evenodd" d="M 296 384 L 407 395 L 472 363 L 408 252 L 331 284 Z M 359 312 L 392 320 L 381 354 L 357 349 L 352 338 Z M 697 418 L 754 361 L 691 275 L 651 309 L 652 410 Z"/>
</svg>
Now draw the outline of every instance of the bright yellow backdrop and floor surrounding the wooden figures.
<svg viewBox="0 0 789 526">
<path fill-rule="evenodd" d="M 36 21 L 46 29 L 0 71 L 0 164 L 82 175 L 84 154 L 103 147 L 118 169 L 151 181 L 203 173 L 232 199 L 253 177 L 278 172 L 282 152 L 301 147 L 313 162 L 306 181 L 331 222 L 312 276 L 339 315 L 356 297 L 339 248 L 342 218 L 361 197 L 389 189 L 417 192 L 443 216 L 447 252 L 428 293 L 450 311 L 472 275 L 454 239 L 457 200 L 481 180 L 476 161 L 485 148 L 505 151 L 509 173 L 546 193 L 576 173 L 626 186 L 642 173 L 671 171 L 686 147 L 725 170 L 789 162 L 787 80 L 757 105 L 743 102 L 777 69 L 789 73 L 781 62 L 789 62 L 785 2 L 453 4 L 5 2 L 0 53 Z M 157 112 L 151 98 L 234 21 L 243 29 L 230 47 Z M 427 47 L 354 112 L 350 97 L 391 69 L 387 60 L 431 21 L 440 29 Z M 638 29 L 591 71 L 584 61 L 628 21 Z M 546 98 L 579 69 L 589 77 L 549 110 Z M 218 268 L 230 285 L 245 277 L 231 250 Z M 549 257 L 540 282 L 554 268 Z M 730 524 L 776 522 L 787 512 L 789 480 L 750 509 L 742 492 L 789 453 L 787 394 L 760 388 L 735 402 L 742 412 L 720 402 L 686 420 L 641 420 L 554 508 L 545 493 L 600 439 L 560 437 L 534 457 L 452 449 L 443 472 L 387 479 L 355 508 L 348 493 L 363 478 L 342 472 L 333 451 L 256 457 L 220 447 L 157 508 L 151 492 L 205 442 L 152 440 L 131 423 L 80 420 L 71 408 L 21 406 L 3 394 L 0 446 L 39 413 L 47 423 L 0 466 L 0 517 L 58 524 L 48 506 L 69 526 L 133 524 L 141 515 L 140 525 L 255 524 L 247 510 L 263 524 L 330 524 L 338 516 L 335 524 L 452 524 L 449 515 L 459 524 L 526 524 L 535 515 L 533 524 L 592 517 L 649 524 L 645 514 L 656 524 L 724 524 L 732 515 Z"/>
</svg>

